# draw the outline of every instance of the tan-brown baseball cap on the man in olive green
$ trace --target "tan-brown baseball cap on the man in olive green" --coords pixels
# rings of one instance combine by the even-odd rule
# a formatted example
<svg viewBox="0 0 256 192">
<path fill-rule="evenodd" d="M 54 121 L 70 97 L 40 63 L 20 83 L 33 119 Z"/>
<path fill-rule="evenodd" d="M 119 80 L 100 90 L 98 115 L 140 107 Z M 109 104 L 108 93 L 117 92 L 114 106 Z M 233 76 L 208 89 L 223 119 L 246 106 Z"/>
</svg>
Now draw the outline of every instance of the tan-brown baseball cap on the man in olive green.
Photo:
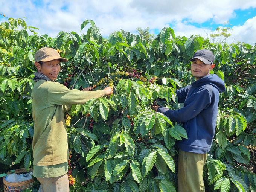
<svg viewBox="0 0 256 192">
<path fill-rule="evenodd" d="M 38 51 L 35 53 L 35 62 L 47 62 L 54 59 L 60 59 L 61 62 L 69 62 L 69 60 L 62 58 L 56 49 L 49 47 L 38 49 Z"/>
</svg>

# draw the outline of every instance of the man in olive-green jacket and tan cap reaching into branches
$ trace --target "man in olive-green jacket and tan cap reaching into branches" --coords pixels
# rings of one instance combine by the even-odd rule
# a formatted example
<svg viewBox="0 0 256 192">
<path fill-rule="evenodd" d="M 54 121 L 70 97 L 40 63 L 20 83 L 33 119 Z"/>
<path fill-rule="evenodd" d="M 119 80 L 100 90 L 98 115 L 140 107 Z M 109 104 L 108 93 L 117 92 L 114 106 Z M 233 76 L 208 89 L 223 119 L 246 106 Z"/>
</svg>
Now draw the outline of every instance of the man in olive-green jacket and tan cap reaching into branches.
<svg viewBox="0 0 256 192">
<path fill-rule="evenodd" d="M 33 158 L 34 176 L 41 183 L 39 192 L 68 192 L 68 137 L 64 112 L 72 105 L 85 104 L 89 99 L 113 93 L 107 87 L 98 91 L 69 90 L 55 82 L 60 71 L 61 58 L 57 50 L 41 48 L 35 53 L 35 85 L 32 89 L 32 116 L 34 120 Z"/>
</svg>

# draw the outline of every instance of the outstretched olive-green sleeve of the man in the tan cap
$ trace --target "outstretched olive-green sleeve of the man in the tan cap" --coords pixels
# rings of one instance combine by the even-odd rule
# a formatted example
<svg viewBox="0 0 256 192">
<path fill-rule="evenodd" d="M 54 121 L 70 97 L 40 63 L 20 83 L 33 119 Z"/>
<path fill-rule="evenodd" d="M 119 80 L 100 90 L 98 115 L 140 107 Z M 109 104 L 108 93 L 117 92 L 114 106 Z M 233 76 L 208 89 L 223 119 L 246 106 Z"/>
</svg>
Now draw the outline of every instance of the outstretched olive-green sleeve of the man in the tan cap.
<svg viewBox="0 0 256 192">
<path fill-rule="evenodd" d="M 106 91 L 80 91 L 70 90 L 59 83 L 51 83 L 47 89 L 47 100 L 52 105 L 76 105 L 85 104 L 89 99 L 100 98 L 106 95 Z M 64 109 L 64 108 L 63 108 Z M 68 110 L 68 109 L 67 109 Z"/>
</svg>

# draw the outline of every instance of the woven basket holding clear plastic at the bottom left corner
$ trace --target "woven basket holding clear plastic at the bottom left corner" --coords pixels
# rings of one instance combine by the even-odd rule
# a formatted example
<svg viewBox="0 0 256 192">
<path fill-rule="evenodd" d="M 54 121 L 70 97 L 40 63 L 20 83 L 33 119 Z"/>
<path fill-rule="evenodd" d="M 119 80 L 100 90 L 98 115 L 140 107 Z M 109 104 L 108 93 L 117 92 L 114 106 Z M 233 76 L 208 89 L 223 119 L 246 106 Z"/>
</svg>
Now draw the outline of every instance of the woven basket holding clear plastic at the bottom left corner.
<svg viewBox="0 0 256 192">
<path fill-rule="evenodd" d="M 33 171 L 32 168 L 29 168 L 29 172 Z M 22 169 L 16 169 L 14 171 L 14 173 L 16 173 L 17 175 L 23 174 L 23 173 L 27 173 L 27 169 L 22 168 Z M 11 172 L 8 172 L 7 175 L 11 174 Z M 11 183 L 5 180 L 5 177 L 3 178 L 3 188 L 4 188 L 4 192 L 20 192 L 23 191 L 24 189 L 30 188 L 34 185 L 35 180 L 34 179 L 30 179 L 27 181 L 22 181 L 22 182 L 18 182 L 18 183 Z"/>
</svg>

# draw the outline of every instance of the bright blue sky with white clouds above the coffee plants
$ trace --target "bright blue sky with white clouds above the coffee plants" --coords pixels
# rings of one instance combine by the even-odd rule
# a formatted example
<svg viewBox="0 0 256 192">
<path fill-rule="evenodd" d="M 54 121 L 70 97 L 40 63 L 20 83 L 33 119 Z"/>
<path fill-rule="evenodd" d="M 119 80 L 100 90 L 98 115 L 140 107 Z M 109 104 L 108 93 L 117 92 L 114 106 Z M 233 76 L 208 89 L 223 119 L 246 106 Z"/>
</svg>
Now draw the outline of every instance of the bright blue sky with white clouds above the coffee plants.
<svg viewBox="0 0 256 192">
<path fill-rule="evenodd" d="M 86 27 L 80 32 L 80 26 L 87 19 L 107 38 L 119 29 L 137 34 L 137 27 L 149 27 L 154 34 L 172 27 L 176 35 L 209 37 L 230 21 L 233 30 L 228 43 L 256 42 L 256 0 L 8 0 L 0 2 L 0 13 L 26 17 L 28 26 L 50 37 L 60 31 L 86 33 Z M 0 16 L 1 21 L 6 18 Z"/>
</svg>

